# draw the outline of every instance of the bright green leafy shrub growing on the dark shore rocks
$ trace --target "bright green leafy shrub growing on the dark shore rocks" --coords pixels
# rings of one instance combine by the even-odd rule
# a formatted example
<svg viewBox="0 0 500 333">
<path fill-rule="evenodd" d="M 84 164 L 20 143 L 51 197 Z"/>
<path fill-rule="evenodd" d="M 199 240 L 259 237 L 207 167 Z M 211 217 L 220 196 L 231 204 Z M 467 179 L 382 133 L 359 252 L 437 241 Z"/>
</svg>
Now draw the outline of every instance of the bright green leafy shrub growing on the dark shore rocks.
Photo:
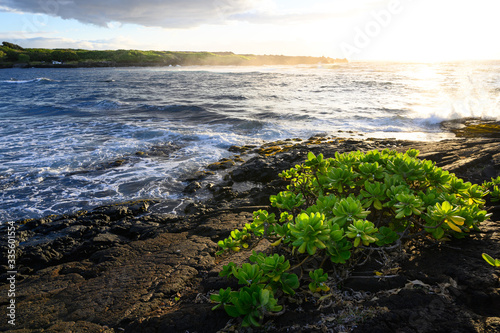
<svg viewBox="0 0 500 333">
<path fill-rule="evenodd" d="M 473 185 L 432 161 L 418 159 L 418 154 L 414 149 L 405 153 L 385 149 L 335 153 L 334 158 L 324 158 L 310 152 L 304 163 L 279 174 L 289 182 L 286 191 L 270 197 L 271 206 L 280 211 L 279 218 L 265 210 L 254 212 L 252 223 L 219 241 L 218 253 L 240 251 L 264 237 L 274 246 L 291 248 L 292 256 L 326 257 L 339 265 L 348 264 L 354 253 L 359 260 L 369 250 L 401 249 L 400 245 L 411 238 L 462 238 L 478 230 L 478 225 L 489 217 L 483 210 L 488 188 L 498 192 L 500 177 Z M 267 260 L 263 254 L 260 256 L 261 262 Z M 256 254 L 252 258 L 255 260 Z M 239 270 L 251 268 L 235 266 L 225 266 L 221 274 L 238 278 L 243 274 Z M 258 263 L 254 266 L 259 267 Z M 240 284 L 247 289 L 259 285 L 273 296 L 280 292 L 293 294 L 299 286 L 295 274 L 292 284 L 281 280 L 292 276 L 286 273 L 290 265 L 286 267 L 269 281 L 254 277 L 252 281 L 256 282 L 248 283 L 248 279 L 240 278 Z M 327 273 L 317 267 L 309 272 L 307 282 L 310 290 L 317 292 L 329 289 L 326 280 Z M 221 294 L 229 295 L 224 290 Z M 218 302 L 220 296 L 213 296 Z M 246 315 L 234 310 L 241 303 L 238 297 L 237 292 L 226 297 L 226 311 L 235 317 Z M 243 324 L 258 324 L 256 319 L 262 319 L 264 312 L 251 320 L 245 317 Z"/>
</svg>

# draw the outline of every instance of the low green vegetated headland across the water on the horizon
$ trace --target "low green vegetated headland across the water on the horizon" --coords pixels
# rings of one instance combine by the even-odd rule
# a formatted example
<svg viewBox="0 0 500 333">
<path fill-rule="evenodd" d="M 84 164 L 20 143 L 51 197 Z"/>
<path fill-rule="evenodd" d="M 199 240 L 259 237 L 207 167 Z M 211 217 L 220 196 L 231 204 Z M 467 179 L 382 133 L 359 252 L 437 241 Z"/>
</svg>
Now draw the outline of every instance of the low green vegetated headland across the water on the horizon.
<svg viewBox="0 0 500 333">
<path fill-rule="evenodd" d="M 30 49 L 9 42 L 0 46 L 0 65 L 9 67 L 14 64 L 29 63 L 30 66 L 43 66 L 53 61 L 74 66 L 92 65 L 297 65 L 331 64 L 346 62 L 345 59 L 326 57 L 291 57 L 282 55 L 240 55 L 232 52 L 172 52 L 108 50 L 90 51 L 82 49 Z"/>
</svg>

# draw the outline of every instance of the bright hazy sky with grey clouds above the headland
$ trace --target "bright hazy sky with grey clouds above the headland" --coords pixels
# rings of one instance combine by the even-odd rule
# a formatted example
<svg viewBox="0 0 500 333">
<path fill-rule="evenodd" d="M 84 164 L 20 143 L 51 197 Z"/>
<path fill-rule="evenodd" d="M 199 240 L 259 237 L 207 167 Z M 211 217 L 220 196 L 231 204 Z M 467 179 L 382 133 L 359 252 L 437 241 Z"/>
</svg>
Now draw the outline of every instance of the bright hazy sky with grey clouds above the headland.
<svg viewBox="0 0 500 333">
<path fill-rule="evenodd" d="M 499 0 L 0 0 L 31 48 L 232 51 L 349 60 L 500 59 Z"/>
</svg>

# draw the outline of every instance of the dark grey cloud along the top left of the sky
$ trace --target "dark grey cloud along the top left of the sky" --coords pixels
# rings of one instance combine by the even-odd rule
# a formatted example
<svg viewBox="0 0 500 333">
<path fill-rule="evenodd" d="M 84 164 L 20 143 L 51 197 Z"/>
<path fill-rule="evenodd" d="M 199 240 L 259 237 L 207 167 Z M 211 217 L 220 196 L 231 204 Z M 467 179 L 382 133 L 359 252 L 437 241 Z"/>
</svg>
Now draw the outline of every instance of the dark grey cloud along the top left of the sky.
<svg viewBox="0 0 500 333">
<path fill-rule="evenodd" d="M 47 14 L 82 23 L 110 22 L 165 28 L 222 23 L 263 0 L 0 0 L 4 10 Z"/>
</svg>

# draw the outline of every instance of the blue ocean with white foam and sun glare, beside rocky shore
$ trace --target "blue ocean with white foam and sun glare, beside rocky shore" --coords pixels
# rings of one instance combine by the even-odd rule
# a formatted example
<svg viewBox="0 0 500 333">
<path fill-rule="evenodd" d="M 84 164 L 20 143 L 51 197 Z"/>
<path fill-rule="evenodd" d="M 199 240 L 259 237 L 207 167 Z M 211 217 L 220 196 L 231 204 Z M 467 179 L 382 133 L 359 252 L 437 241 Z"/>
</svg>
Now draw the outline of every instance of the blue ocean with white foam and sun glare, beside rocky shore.
<svg viewBox="0 0 500 333">
<path fill-rule="evenodd" d="M 436 141 L 468 117 L 500 119 L 500 61 L 2 69 L 0 223 L 146 198 L 176 213 L 232 145 Z"/>
</svg>

